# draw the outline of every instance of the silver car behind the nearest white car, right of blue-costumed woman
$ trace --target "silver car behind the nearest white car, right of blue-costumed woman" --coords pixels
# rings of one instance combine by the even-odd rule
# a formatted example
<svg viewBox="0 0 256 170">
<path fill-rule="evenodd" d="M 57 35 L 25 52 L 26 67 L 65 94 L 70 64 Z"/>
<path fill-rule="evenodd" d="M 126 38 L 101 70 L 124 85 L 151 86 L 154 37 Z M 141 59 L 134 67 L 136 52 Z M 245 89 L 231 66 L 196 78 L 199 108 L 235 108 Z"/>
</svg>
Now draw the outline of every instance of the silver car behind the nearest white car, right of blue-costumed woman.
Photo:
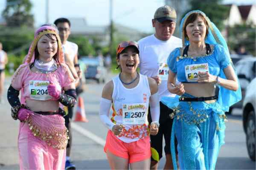
<svg viewBox="0 0 256 170">
<path fill-rule="evenodd" d="M 232 105 L 226 114 L 231 114 L 233 108 L 242 108 L 245 89 L 252 79 L 256 77 L 256 57 L 244 57 L 240 59 L 236 62 L 235 68 L 241 86 L 242 99 L 240 102 Z"/>
</svg>

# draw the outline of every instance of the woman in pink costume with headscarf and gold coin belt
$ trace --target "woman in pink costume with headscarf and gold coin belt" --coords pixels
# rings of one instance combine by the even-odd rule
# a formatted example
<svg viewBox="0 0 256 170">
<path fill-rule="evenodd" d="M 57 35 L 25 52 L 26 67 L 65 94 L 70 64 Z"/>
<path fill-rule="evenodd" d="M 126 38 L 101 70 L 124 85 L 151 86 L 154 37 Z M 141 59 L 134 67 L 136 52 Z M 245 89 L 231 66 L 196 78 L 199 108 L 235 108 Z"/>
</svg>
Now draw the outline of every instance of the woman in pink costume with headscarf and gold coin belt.
<svg viewBox="0 0 256 170">
<path fill-rule="evenodd" d="M 42 26 L 35 32 L 25 63 L 12 77 L 7 97 L 13 119 L 20 120 L 20 169 L 63 170 L 68 131 L 65 112 L 59 105 L 74 106 L 76 91 L 54 27 Z"/>
</svg>

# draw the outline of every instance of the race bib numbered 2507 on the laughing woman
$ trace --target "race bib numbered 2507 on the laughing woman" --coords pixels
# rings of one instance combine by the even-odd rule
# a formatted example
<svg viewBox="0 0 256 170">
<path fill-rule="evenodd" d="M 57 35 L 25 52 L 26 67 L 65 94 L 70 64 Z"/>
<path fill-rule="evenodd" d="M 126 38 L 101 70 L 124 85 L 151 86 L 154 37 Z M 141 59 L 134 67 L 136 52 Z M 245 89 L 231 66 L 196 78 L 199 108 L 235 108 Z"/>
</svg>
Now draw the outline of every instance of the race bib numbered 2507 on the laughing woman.
<svg viewBox="0 0 256 170">
<path fill-rule="evenodd" d="M 144 124 L 147 118 L 145 103 L 123 104 L 122 118 L 124 124 Z"/>
</svg>

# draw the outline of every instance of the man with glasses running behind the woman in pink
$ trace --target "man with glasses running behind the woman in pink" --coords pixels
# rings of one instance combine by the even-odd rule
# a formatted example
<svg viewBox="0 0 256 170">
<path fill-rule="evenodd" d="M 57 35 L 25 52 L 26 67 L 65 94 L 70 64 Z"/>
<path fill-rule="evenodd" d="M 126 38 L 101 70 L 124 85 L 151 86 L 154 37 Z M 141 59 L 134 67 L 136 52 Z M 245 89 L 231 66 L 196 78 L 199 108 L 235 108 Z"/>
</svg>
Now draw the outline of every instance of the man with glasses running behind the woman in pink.
<svg viewBox="0 0 256 170">
<path fill-rule="evenodd" d="M 65 62 L 69 66 L 70 70 L 71 68 L 75 67 L 75 71 L 77 72 L 77 76 L 81 79 L 80 74 L 80 68 L 78 64 L 78 45 L 74 42 L 68 41 L 68 37 L 70 35 L 70 21 L 67 18 L 58 18 L 54 21 L 54 24 L 57 26 L 59 35 L 61 37 L 61 43 L 62 48 L 65 54 Z M 81 82 L 81 81 L 80 81 Z M 76 93 L 77 96 L 79 95 L 78 91 L 79 83 L 76 85 Z M 65 125 L 67 129 L 69 130 L 69 140 L 67 144 L 67 150 L 66 150 L 66 164 L 65 169 L 66 170 L 75 170 L 76 167 L 74 164 L 70 162 L 70 150 L 71 150 L 71 144 L 72 144 L 72 133 L 71 133 L 71 120 L 73 117 L 73 108 L 68 107 L 68 115 L 64 116 L 65 118 Z"/>
</svg>

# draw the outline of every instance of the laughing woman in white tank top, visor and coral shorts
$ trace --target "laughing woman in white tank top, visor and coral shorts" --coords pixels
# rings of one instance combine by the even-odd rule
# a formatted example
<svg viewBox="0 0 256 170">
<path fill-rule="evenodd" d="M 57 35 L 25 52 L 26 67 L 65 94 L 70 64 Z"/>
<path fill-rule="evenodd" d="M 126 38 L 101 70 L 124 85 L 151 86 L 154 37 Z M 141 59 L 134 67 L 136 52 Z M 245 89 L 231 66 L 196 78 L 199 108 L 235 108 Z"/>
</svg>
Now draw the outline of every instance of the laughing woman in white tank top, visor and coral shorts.
<svg viewBox="0 0 256 170">
<path fill-rule="evenodd" d="M 137 73 L 140 62 L 137 42 L 121 42 L 116 49 L 116 62 L 121 73 L 102 91 L 99 116 L 108 127 L 104 151 L 111 169 L 149 169 L 150 138 L 159 127 L 157 82 Z M 109 110 L 113 109 L 109 118 Z M 150 105 L 152 123 L 148 125 Z"/>
</svg>

